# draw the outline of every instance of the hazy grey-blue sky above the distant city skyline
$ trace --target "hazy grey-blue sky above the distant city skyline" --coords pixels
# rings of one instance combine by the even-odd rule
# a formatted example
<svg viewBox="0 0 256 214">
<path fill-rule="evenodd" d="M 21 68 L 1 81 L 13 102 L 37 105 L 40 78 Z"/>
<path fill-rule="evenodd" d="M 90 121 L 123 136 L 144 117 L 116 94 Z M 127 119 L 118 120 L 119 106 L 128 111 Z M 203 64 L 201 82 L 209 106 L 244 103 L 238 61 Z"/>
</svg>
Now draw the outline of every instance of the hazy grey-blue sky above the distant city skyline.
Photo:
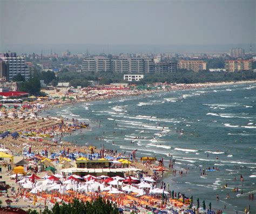
<svg viewBox="0 0 256 214">
<path fill-rule="evenodd" d="M 255 2 L 0 0 L 0 42 L 2 45 L 250 43 L 256 38 Z"/>
</svg>

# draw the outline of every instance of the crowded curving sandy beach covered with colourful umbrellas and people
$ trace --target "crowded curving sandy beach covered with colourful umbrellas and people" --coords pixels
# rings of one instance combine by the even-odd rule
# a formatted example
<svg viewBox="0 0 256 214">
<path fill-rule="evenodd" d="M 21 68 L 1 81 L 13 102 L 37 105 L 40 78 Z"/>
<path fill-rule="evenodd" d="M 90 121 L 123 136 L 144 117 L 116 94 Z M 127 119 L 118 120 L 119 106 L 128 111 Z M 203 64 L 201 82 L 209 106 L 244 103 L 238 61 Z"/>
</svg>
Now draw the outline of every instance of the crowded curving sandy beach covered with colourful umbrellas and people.
<svg viewBox="0 0 256 214">
<path fill-rule="evenodd" d="M 161 182 L 165 168 L 154 157 L 136 158 L 136 151 L 118 151 L 78 146 L 63 141 L 90 124 L 78 119 L 41 117 L 40 112 L 65 104 L 89 102 L 163 90 L 193 89 L 205 85 L 168 85 L 152 90 L 126 88 L 73 88 L 48 91 L 45 97 L 4 98 L 1 104 L 0 158 L 2 183 L 0 200 L 6 206 L 43 210 L 57 203 L 92 201 L 97 197 L 116 203 L 120 213 L 215 213 L 199 199 L 174 192 Z M 28 99 L 29 98 L 29 99 Z"/>
</svg>

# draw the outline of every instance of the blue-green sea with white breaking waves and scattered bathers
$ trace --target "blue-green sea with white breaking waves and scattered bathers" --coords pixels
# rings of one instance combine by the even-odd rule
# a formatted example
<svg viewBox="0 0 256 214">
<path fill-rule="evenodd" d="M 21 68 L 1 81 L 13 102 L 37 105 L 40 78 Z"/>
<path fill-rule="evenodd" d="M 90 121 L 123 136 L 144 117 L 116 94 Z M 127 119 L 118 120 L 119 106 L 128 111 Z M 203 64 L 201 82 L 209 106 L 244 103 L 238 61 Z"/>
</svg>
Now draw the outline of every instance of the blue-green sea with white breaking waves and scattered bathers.
<svg viewBox="0 0 256 214">
<path fill-rule="evenodd" d="M 127 155 L 137 149 L 136 156 L 163 158 L 167 168 L 172 155 L 177 174 L 163 179 L 171 190 L 193 196 L 195 204 L 199 198 L 200 206 L 205 200 L 207 209 L 211 202 L 212 210 L 244 213 L 250 205 L 256 213 L 256 198 L 249 199 L 256 194 L 255 104 L 256 84 L 247 83 L 70 104 L 43 115 L 90 124 L 65 141 Z M 201 175 L 213 167 L 219 170 Z"/>
</svg>

